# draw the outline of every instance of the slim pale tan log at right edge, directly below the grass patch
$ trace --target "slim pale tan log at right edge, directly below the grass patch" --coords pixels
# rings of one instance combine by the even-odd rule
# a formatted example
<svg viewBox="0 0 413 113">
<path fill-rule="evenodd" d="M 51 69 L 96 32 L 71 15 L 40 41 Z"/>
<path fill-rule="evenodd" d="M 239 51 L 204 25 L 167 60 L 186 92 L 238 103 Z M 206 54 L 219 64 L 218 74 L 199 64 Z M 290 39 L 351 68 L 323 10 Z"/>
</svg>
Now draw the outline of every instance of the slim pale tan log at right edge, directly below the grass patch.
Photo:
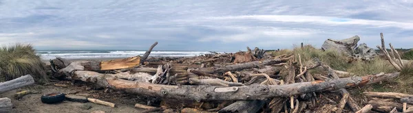
<svg viewBox="0 0 413 113">
<path fill-rule="evenodd" d="M 413 97 L 413 95 L 403 94 L 399 92 L 363 92 L 368 97 L 392 98 L 401 99 L 405 97 Z"/>
</svg>

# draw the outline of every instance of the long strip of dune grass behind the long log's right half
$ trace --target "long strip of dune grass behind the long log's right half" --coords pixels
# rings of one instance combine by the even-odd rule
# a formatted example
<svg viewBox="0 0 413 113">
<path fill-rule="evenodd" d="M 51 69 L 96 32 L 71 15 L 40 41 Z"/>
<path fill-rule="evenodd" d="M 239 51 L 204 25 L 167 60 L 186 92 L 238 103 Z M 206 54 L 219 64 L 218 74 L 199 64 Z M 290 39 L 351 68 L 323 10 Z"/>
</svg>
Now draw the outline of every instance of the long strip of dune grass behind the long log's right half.
<svg viewBox="0 0 413 113">
<path fill-rule="evenodd" d="M 334 50 L 323 51 L 321 49 L 316 49 L 311 45 L 306 45 L 304 47 L 294 47 L 294 49 L 288 50 L 283 49 L 280 51 L 275 51 L 273 55 L 282 55 L 282 54 L 294 54 L 298 61 L 298 54 L 301 55 L 301 60 L 305 66 L 310 66 L 315 63 L 314 58 L 318 58 L 324 64 L 327 64 L 331 68 L 339 71 L 347 71 L 354 73 L 354 75 L 364 76 L 372 75 L 377 73 L 392 73 L 395 72 L 395 69 L 390 65 L 388 60 L 382 58 L 374 58 L 370 61 L 355 60 L 352 61 L 347 55 L 340 53 Z M 319 68 L 313 69 L 310 73 L 319 73 Z"/>
</svg>

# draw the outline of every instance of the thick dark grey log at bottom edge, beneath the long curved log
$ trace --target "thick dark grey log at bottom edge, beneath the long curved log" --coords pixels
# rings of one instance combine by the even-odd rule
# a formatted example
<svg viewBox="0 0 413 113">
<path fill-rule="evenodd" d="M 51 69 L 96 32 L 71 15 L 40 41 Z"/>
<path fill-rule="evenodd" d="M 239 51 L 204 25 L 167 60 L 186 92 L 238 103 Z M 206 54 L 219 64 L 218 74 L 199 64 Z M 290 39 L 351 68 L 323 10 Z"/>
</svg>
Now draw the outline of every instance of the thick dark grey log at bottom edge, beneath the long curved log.
<svg viewBox="0 0 413 113">
<path fill-rule="evenodd" d="M 239 112 L 239 113 L 249 113 L 258 112 L 260 108 L 264 105 L 265 101 L 253 100 L 253 101 L 236 101 L 231 105 L 222 108 L 218 113 L 224 112 Z"/>
</svg>

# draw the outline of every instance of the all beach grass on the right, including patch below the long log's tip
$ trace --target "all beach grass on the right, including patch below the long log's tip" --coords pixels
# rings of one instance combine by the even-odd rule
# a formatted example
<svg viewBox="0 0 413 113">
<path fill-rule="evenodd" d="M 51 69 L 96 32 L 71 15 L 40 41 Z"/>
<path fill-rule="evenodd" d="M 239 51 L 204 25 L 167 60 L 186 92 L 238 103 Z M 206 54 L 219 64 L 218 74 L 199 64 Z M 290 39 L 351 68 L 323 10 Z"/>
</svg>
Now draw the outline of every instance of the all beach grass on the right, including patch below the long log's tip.
<svg viewBox="0 0 413 113">
<path fill-rule="evenodd" d="M 304 47 L 293 47 L 293 49 L 281 49 L 279 51 L 271 52 L 273 56 L 283 55 L 283 54 L 293 54 L 296 55 L 298 61 L 298 54 L 301 55 L 301 60 L 304 66 L 310 66 L 314 64 L 314 58 L 319 59 L 324 64 L 328 64 L 331 68 L 339 71 L 347 71 L 354 73 L 356 76 L 366 76 L 373 75 L 377 73 L 394 73 L 396 69 L 388 62 L 380 57 L 376 57 L 369 61 L 362 60 L 352 60 L 348 58 L 347 55 L 339 53 L 337 51 L 323 51 L 321 49 L 316 49 L 311 45 L 306 45 Z M 413 56 L 413 52 L 406 52 L 403 54 L 406 58 Z M 412 57 L 413 58 L 413 57 Z M 412 59 L 413 60 L 413 59 Z M 315 68 L 310 70 L 309 73 L 312 74 L 327 74 L 321 68 Z M 403 92 L 413 94 L 413 66 L 408 65 L 403 68 L 399 77 L 396 79 L 385 81 L 381 84 L 372 84 L 367 86 L 368 88 L 361 88 L 362 91 L 379 91 L 379 92 Z"/>
</svg>

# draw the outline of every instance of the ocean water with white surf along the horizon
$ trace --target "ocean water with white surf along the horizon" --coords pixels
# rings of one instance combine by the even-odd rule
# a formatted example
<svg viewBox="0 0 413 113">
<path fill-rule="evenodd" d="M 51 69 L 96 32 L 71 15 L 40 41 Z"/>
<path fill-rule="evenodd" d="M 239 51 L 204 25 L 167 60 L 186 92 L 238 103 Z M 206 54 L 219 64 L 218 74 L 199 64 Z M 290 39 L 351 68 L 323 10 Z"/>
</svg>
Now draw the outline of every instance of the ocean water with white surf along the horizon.
<svg viewBox="0 0 413 113">
<path fill-rule="evenodd" d="M 51 60 L 56 57 L 66 59 L 94 59 L 94 58 L 128 58 L 136 55 L 142 56 L 146 51 L 123 50 L 47 50 L 36 51 L 42 60 Z M 193 57 L 209 54 L 209 51 L 151 51 L 149 57 Z"/>
</svg>

